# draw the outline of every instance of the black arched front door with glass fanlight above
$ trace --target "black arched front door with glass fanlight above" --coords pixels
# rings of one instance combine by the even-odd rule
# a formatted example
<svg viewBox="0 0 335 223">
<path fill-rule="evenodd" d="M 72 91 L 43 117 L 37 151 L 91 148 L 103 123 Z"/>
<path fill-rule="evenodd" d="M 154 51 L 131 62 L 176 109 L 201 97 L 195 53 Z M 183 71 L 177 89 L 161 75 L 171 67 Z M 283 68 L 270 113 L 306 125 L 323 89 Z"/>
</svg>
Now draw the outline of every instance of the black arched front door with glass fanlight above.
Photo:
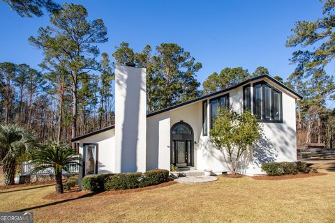
<svg viewBox="0 0 335 223">
<path fill-rule="evenodd" d="M 171 128 L 171 164 L 177 167 L 194 166 L 193 130 L 180 121 Z"/>
</svg>

